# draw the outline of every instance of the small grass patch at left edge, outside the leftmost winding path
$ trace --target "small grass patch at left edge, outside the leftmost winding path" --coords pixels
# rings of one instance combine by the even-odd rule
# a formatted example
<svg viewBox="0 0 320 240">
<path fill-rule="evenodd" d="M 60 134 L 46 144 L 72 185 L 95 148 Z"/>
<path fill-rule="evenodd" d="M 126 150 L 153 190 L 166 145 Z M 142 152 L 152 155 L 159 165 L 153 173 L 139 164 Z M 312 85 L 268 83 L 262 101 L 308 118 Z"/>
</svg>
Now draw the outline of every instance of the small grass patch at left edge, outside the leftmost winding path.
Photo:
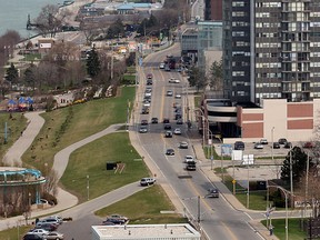
<svg viewBox="0 0 320 240">
<path fill-rule="evenodd" d="M 4 128 L 7 123 L 7 142 L 4 141 Z M 2 159 L 8 149 L 21 136 L 21 131 L 27 127 L 27 119 L 21 112 L 1 112 L 0 114 L 0 158 Z"/>
</svg>

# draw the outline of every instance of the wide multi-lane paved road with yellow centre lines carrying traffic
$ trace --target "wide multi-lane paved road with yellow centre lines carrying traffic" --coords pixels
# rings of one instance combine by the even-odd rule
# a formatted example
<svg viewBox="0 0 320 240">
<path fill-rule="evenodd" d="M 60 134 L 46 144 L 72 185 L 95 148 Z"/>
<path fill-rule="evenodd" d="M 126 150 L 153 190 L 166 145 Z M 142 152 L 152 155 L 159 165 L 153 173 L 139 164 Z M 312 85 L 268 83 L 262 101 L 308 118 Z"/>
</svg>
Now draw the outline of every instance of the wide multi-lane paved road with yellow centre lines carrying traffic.
<svg viewBox="0 0 320 240">
<path fill-rule="evenodd" d="M 179 46 L 176 44 L 170 50 L 158 53 L 157 56 L 149 57 L 143 63 L 143 72 L 147 76 L 152 72 L 154 76 L 151 113 L 143 116 L 141 119 L 147 119 L 150 122 L 152 117 L 158 117 L 160 121 L 163 118 L 170 118 L 172 128 L 181 127 L 182 136 L 174 136 L 172 139 L 163 138 L 163 126 L 151 124 L 149 126 L 149 133 L 139 134 L 142 148 L 148 152 L 148 157 L 157 164 L 158 171 L 163 176 L 160 183 L 164 182 L 172 187 L 176 194 L 179 196 L 181 204 L 187 209 L 187 212 L 191 214 L 191 219 L 196 221 L 200 218 L 202 230 L 209 236 L 210 239 L 261 239 L 252 228 L 248 224 L 250 218 L 242 212 L 234 211 L 230 204 L 220 199 L 206 199 L 207 190 L 212 187 L 212 182 L 200 171 L 202 162 L 198 162 L 199 170 L 196 172 L 187 172 L 184 170 L 183 159 L 186 154 L 194 156 L 192 149 L 181 150 L 178 149 L 179 141 L 187 140 L 188 136 L 187 126 L 177 126 L 174 123 L 173 102 L 186 103 L 187 94 L 186 83 L 181 74 L 178 72 L 164 72 L 158 70 L 159 62 L 166 58 L 166 54 L 177 54 Z M 168 79 L 174 77 L 182 80 L 182 83 L 169 83 Z M 141 88 L 139 90 L 140 101 L 143 96 L 146 82 L 144 79 L 140 80 Z M 182 99 L 176 99 L 174 97 L 167 97 L 167 90 L 172 90 L 173 96 L 176 93 L 182 94 Z M 186 120 L 186 112 L 184 120 Z M 139 121 L 137 122 L 139 123 Z M 192 140 L 189 140 L 192 144 Z M 174 157 L 166 157 L 164 150 L 167 148 L 173 148 L 176 150 Z M 182 177 L 182 178 L 181 178 Z M 186 179 L 186 177 L 188 177 Z M 213 182 L 214 183 L 214 182 Z M 200 196 L 200 199 L 198 199 Z"/>
</svg>

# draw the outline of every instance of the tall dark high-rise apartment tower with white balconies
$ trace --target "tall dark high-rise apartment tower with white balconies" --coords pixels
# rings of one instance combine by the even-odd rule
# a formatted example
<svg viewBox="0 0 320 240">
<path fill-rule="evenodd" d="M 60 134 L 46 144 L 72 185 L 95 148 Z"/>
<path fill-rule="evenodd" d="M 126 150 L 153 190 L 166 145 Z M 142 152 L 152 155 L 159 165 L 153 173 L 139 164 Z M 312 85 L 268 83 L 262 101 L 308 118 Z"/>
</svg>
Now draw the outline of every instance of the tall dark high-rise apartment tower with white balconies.
<svg viewBox="0 0 320 240">
<path fill-rule="evenodd" d="M 224 0 L 223 21 L 232 102 L 320 98 L 319 0 Z"/>
</svg>

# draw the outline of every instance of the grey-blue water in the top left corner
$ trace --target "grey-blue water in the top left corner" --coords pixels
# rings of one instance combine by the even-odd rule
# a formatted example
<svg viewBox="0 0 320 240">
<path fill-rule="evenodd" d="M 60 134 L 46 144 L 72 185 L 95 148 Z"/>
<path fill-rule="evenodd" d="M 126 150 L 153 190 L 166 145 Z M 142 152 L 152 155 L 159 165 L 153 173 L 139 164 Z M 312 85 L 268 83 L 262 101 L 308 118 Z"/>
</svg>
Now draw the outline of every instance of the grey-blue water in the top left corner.
<svg viewBox="0 0 320 240">
<path fill-rule="evenodd" d="M 44 6 L 62 3 L 63 0 L 0 0 L 0 36 L 16 30 L 22 38 L 31 37 L 34 32 L 26 29 L 28 14 L 32 21 Z"/>
</svg>

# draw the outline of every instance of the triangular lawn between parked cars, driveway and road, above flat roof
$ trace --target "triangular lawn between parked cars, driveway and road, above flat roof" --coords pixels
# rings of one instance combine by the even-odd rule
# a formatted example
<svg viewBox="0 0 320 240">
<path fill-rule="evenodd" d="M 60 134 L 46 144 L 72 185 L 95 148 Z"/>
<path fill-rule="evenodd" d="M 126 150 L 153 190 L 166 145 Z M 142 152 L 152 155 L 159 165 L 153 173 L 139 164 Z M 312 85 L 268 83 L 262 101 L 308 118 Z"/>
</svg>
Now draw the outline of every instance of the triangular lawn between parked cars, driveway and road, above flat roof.
<svg viewBox="0 0 320 240">
<path fill-rule="evenodd" d="M 123 214 L 130 219 L 130 224 L 186 223 L 188 221 L 180 214 L 160 213 L 160 211 L 174 211 L 174 207 L 163 189 L 154 184 L 100 209 L 96 214 L 103 219 L 112 213 Z"/>
</svg>

